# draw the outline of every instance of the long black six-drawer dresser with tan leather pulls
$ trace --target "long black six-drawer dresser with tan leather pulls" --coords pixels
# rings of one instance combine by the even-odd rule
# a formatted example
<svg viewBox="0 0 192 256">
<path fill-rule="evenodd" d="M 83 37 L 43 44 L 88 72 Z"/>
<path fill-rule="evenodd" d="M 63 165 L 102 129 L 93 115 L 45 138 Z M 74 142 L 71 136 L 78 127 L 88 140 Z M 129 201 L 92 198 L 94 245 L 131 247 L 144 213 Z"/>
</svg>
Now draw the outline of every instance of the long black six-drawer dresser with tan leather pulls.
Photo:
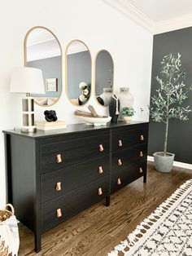
<svg viewBox="0 0 192 256">
<path fill-rule="evenodd" d="M 68 125 L 24 134 L 3 131 L 7 201 L 21 223 L 41 234 L 143 176 L 146 182 L 148 122 L 107 126 Z"/>
</svg>

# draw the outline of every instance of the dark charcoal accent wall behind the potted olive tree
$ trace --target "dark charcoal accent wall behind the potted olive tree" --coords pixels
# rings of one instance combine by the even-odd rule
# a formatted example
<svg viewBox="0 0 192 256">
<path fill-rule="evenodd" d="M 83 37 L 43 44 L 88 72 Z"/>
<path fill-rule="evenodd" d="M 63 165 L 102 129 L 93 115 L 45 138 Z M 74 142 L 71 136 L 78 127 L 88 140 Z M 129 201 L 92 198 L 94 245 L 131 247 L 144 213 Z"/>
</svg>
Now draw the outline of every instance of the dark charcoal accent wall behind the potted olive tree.
<svg viewBox="0 0 192 256">
<path fill-rule="evenodd" d="M 154 36 L 153 64 L 151 78 L 151 95 L 155 94 L 158 83 L 155 77 L 159 74 L 159 63 L 164 55 L 172 52 L 177 55 L 181 53 L 181 64 L 187 76 L 184 80 L 186 85 L 192 85 L 192 27 L 179 29 L 168 33 Z M 186 105 L 192 108 L 192 92 Z M 175 161 L 192 164 L 192 114 L 189 121 L 171 120 L 168 130 L 168 152 L 176 154 Z M 150 124 L 149 152 L 162 151 L 164 144 L 164 124 Z"/>
</svg>

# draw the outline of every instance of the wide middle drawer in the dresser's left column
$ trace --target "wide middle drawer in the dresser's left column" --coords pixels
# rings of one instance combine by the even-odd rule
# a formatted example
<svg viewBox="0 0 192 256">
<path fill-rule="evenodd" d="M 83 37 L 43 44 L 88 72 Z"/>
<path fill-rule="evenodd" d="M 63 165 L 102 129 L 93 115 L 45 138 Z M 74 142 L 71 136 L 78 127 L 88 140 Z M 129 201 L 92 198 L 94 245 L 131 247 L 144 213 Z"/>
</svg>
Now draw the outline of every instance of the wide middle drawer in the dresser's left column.
<svg viewBox="0 0 192 256">
<path fill-rule="evenodd" d="M 41 175 L 41 202 L 62 196 L 109 174 L 109 156 Z"/>
</svg>

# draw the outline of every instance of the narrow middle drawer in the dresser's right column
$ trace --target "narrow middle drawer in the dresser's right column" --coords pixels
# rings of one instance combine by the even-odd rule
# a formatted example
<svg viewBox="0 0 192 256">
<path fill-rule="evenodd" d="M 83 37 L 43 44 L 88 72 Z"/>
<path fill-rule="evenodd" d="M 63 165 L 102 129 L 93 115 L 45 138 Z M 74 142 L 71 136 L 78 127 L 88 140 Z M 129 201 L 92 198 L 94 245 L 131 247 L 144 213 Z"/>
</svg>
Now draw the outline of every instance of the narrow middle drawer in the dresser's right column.
<svg viewBox="0 0 192 256">
<path fill-rule="evenodd" d="M 120 152 L 112 153 L 111 168 L 112 172 L 124 169 L 133 161 L 146 161 L 147 145 L 127 148 Z"/>
</svg>

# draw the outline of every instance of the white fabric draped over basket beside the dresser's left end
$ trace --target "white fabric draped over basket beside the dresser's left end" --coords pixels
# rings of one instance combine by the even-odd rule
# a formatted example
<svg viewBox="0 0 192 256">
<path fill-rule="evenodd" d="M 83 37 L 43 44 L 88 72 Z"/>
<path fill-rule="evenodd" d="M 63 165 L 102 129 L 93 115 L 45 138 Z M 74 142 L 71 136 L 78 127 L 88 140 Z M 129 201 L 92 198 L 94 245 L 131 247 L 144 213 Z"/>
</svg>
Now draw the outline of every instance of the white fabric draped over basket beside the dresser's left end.
<svg viewBox="0 0 192 256">
<path fill-rule="evenodd" d="M 17 223 L 15 215 L 7 218 L 2 223 L 0 222 L 0 255 L 6 248 L 8 249 L 8 254 L 12 253 L 12 256 L 18 255 L 20 238 Z M 4 246 L 1 248 L 3 244 Z"/>
</svg>

